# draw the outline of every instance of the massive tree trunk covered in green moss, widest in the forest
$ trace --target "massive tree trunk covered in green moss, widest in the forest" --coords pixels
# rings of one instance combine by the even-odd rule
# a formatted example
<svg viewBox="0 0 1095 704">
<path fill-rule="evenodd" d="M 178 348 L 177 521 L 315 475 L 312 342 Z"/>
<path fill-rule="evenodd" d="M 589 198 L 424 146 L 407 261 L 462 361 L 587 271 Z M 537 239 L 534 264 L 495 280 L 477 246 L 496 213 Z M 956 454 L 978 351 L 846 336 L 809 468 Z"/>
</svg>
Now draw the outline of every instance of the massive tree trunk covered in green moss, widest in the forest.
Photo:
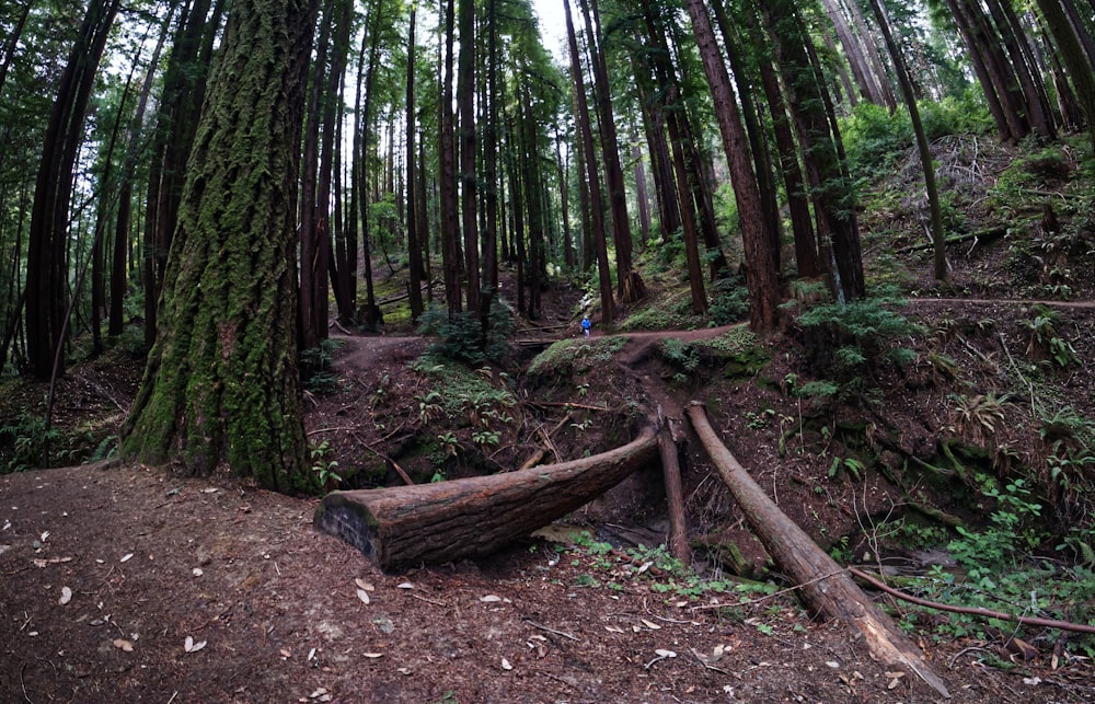
<svg viewBox="0 0 1095 704">
<path fill-rule="evenodd" d="M 315 0 L 233 3 L 191 153 L 129 460 L 311 488 L 296 360 L 297 146 Z"/>
</svg>

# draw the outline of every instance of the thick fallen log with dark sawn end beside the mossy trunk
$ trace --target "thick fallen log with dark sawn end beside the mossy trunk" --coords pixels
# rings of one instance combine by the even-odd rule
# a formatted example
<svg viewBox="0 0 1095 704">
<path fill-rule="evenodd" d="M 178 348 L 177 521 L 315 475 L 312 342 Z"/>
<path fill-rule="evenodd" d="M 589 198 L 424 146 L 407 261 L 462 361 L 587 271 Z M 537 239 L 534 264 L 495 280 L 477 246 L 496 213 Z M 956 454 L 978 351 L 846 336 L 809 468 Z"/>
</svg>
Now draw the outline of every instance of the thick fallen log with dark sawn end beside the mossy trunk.
<svg viewBox="0 0 1095 704">
<path fill-rule="evenodd" d="M 550 466 L 436 484 L 332 492 L 312 524 L 381 569 L 488 555 L 611 488 L 657 457 L 656 424 L 627 445 Z"/>
</svg>

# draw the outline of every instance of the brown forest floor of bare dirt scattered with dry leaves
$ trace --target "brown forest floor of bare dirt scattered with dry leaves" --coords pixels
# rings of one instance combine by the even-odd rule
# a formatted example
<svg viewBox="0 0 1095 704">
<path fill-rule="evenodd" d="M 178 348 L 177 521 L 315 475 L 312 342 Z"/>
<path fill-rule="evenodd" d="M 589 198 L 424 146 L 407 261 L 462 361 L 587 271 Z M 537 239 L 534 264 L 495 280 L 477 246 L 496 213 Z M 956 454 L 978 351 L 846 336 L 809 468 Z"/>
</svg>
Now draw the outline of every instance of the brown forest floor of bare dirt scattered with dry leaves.
<svg viewBox="0 0 1095 704">
<path fill-rule="evenodd" d="M 894 218 L 904 217 L 898 210 L 915 208 Z M 865 218 L 874 232 L 891 224 L 875 218 Z M 1015 232 L 1034 227 L 1024 218 L 1013 218 Z M 931 280 L 922 249 L 906 252 L 900 270 L 872 267 L 912 292 L 900 311 L 921 332 L 908 341 L 917 361 L 880 368 L 873 394 L 854 403 L 819 406 L 793 393 L 818 378 L 803 355 L 818 341 L 795 324 L 770 341 L 670 324 L 598 330 L 587 342 L 581 291 L 560 284 L 538 322 L 558 326 L 548 331 L 558 344 L 534 370 L 534 353 L 522 353 L 472 373 L 487 385 L 461 392 L 476 401 L 457 412 L 451 370 L 423 356 L 429 338 L 397 326 L 338 337 L 328 383 L 307 393 L 313 459 L 338 475 L 332 486 L 400 483 L 396 464 L 416 482 L 439 466 L 452 480 L 540 453 L 597 453 L 625 441 L 636 418 L 680 418 L 699 400 L 780 508 L 842 562 L 949 569 L 938 551 L 881 545 L 878 527 L 917 512 L 913 489 L 947 515 L 988 512 L 963 498 L 955 477 L 918 474 L 918 462 L 940 461 L 944 437 L 960 435 L 956 397 L 1012 397 L 993 446 L 1031 465 L 1046 452 L 1030 417 L 1035 394 L 1095 418 L 1095 234 L 1082 234 L 1069 301 L 1052 303 L 1056 333 L 1079 363 L 1048 371 L 1031 357 L 1030 323 L 1049 282 L 1026 286 L 1048 269 L 1016 255 L 1008 238 L 1017 236 L 952 246 L 946 287 Z M 914 244 L 865 236 L 867 256 Z M 647 281 L 652 298 L 669 287 L 657 279 Z M 94 430 L 125 417 L 139 373 L 139 357 L 118 348 L 61 380 L 55 417 L 66 437 L 88 437 L 83 457 Z M 1017 374 L 1028 389 L 1014 384 Z M 39 409 L 45 392 L 3 386 L 0 416 Z M 460 418 L 469 408 L 475 423 Z M 476 440 L 487 427 L 494 441 Z M 889 476 L 848 469 L 849 458 L 868 455 Z M 739 572 L 786 580 L 694 438 L 681 459 L 689 568 L 655 547 L 666 535 L 658 466 L 487 558 L 399 574 L 313 530 L 318 498 L 272 494 L 228 471 L 194 477 L 107 461 L 0 475 L 0 701 L 942 701 L 911 672 L 872 660 L 845 626 L 806 612 L 794 589 L 733 591 L 728 545 Z M 1052 545 L 1044 552 L 1058 558 Z M 943 627 L 944 613 L 879 600 L 910 628 L 949 701 L 1095 701 L 1095 667 L 1056 634 L 1024 632 L 1035 654 L 1017 654 L 1006 630 L 958 635 Z M 1093 607 L 1073 604 L 1084 605 Z"/>
</svg>

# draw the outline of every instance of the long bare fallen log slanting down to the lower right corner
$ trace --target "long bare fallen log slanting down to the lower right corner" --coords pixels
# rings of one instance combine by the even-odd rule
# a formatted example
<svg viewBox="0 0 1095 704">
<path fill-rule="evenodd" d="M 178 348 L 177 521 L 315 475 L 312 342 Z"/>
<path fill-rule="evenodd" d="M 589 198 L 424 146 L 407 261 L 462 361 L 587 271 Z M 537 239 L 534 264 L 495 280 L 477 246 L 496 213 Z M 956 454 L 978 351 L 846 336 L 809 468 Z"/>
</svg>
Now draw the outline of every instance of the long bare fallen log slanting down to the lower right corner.
<svg viewBox="0 0 1095 704">
<path fill-rule="evenodd" d="M 749 524 L 772 558 L 800 587 L 807 604 L 857 630 L 873 657 L 910 669 L 949 699 L 946 684 L 932 671 L 915 644 L 749 476 L 711 427 L 703 404 L 693 401 L 688 415 Z"/>
</svg>

